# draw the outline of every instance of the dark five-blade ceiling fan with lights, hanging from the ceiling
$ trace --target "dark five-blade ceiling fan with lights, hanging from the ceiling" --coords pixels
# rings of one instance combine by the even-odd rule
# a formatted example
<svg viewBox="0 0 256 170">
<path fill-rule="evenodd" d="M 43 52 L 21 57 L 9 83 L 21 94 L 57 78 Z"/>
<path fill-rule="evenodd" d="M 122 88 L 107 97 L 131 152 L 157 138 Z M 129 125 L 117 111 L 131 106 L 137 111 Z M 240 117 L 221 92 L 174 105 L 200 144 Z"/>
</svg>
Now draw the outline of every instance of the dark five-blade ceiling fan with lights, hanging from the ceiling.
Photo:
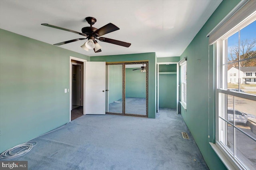
<svg viewBox="0 0 256 170">
<path fill-rule="evenodd" d="M 113 39 L 110 39 L 110 38 L 101 37 L 105 34 L 108 34 L 110 32 L 113 32 L 113 31 L 116 31 L 116 30 L 120 29 L 117 26 L 115 26 L 114 24 L 108 23 L 105 26 L 97 29 L 97 28 L 92 27 L 92 25 L 95 24 L 95 22 L 97 21 L 96 18 L 86 17 L 85 20 L 88 22 L 88 24 L 90 24 L 90 27 L 82 28 L 82 33 L 76 32 L 76 31 L 73 31 L 73 30 L 69 30 L 69 29 L 66 29 L 66 28 L 61 28 L 61 27 L 58 27 L 58 26 L 53 26 L 53 25 L 50 25 L 50 24 L 41 24 L 41 25 L 52 27 L 52 28 L 57 28 L 57 29 L 60 29 L 60 30 L 68 31 L 68 32 L 73 32 L 75 34 L 79 34 L 81 36 L 86 37 L 86 38 L 77 38 L 77 39 L 69 40 L 69 41 L 66 41 L 66 42 L 55 43 L 54 45 L 63 45 L 63 44 L 66 44 L 66 43 L 71 43 L 71 42 L 76 42 L 76 41 L 79 41 L 79 40 L 88 39 L 88 41 L 85 42 L 81 47 L 86 51 L 89 51 L 89 49 L 94 49 L 95 53 L 101 52 L 101 48 L 102 48 L 96 40 L 100 40 L 101 42 L 107 42 L 107 43 L 112 43 L 112 44 L 116 44 L 116 45 L 121 45 L 121 46 L 124 46 L 124 47 L 130 47 L 131 43 L 121 42 L 121 41 L 118 41 L 118 40 L 113 40 Z"/>
</svg>

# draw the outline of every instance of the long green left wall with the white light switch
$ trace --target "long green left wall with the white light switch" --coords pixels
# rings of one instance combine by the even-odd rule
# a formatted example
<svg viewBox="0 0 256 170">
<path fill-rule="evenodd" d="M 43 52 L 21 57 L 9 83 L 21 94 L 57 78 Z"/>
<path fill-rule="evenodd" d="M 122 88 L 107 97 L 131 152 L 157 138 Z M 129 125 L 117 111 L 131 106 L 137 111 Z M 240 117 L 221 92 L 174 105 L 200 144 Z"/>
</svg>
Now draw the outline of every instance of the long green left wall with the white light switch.
<svg viewBox="0 0 256 170">
<path fill-rule="evenodd" d="M 0 29 L 0 152 L 69 122 L 70 56 L 90 57 Z"/>
</svg>

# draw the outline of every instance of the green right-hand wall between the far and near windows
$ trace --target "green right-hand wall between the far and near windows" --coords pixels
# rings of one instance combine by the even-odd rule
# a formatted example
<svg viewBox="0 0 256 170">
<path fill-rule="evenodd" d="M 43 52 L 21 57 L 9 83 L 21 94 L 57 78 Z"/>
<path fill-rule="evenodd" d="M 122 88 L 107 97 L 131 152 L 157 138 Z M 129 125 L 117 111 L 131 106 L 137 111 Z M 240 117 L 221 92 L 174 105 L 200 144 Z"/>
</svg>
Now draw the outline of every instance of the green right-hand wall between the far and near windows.
<svg viewBox="0 0 256 170">
<path fill-rule="evenodd" d="M 210 46 L 210 76 L 208 89 L 208 38 L 206 35 L 240 2 L 240 0 L 223 0 L 198 32 L 186 50 L 180 56 L 187 58 L 187 110 L 181 114 L 198 145 L 208 167 L 214 170 L 226 169 L 209 142 L 215 142 L 215 97 L 214 97 L 214 57 Z M 198 61 L 200 59 L 201 61 Z M 208 98 L 209 92 L 209 98 Z M 209 99 L 209 109 L 208 109 Z M 209 117 L 208 117 L 209 111 Z M 209 135 L 208 138 L 208 118 Z"/>
</svg>

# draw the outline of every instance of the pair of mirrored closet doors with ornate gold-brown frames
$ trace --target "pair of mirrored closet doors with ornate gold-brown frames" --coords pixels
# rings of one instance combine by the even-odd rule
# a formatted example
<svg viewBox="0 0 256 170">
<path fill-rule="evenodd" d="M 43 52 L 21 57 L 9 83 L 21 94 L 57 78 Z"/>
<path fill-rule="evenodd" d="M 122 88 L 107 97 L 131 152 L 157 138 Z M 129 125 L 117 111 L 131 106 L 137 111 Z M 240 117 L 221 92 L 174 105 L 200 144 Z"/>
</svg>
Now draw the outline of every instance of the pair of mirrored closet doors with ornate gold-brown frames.
<svg viewBox="0 0 256 170">
<path fill-rule="evenodd" d="M 106 114 L 148 117 L 148 61 L 106 63 Z"/>
</svg>

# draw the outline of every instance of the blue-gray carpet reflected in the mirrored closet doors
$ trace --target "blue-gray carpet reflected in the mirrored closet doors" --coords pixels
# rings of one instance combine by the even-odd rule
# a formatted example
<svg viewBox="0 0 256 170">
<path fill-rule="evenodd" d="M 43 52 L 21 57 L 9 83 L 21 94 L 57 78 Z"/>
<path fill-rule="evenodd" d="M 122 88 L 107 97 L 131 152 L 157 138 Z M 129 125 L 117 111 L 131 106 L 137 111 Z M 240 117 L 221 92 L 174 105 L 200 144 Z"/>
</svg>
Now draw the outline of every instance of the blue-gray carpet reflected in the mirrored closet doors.
<svg viewBox="0 0 256 170">
<path fill-rule="evenodd" d="M 119 99 L 118 102 L 110 103 L 108 110 L 112 113 L 122 113 L 122 99 Z M 126 97 L 125 113 L 146 115 L 146 98 Z"/>
</svg>

